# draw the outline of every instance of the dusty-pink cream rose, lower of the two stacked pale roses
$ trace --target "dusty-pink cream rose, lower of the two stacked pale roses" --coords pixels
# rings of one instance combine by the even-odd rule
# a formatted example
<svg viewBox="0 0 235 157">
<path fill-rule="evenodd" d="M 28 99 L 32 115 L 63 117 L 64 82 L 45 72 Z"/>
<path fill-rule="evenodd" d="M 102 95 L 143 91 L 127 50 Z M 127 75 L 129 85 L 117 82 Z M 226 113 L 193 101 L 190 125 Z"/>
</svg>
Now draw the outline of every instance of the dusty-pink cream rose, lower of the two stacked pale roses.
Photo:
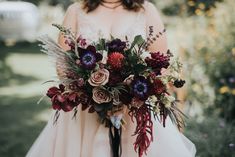
<svg viewBox="0 0 235 157">
<path fill-rule="evenodd" d="M 106 90 L 99 87 L 93 88 L 92 94 L 93 100 L 98 104 L 108 103 L 112 100 L 111 95 Z"/>
</svg>

